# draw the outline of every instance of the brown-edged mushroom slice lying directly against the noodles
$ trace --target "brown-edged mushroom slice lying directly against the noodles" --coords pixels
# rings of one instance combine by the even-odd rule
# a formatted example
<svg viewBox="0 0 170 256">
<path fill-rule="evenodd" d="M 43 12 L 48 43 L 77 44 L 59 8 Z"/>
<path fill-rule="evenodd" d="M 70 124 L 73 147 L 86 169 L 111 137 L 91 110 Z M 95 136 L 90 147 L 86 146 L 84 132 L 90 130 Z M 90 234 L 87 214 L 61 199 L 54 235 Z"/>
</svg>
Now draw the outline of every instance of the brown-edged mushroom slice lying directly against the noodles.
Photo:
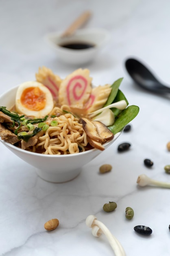
<svg viewBox="0 0 170 256">
<path fill-rule="evenodd" d="M 83 125 L 83 129 L 89 138 L 100 143 L 105 142 L 98 134 L 96 126 L 89 119 L 81 118 L 79 122 Z"/>
</svg>

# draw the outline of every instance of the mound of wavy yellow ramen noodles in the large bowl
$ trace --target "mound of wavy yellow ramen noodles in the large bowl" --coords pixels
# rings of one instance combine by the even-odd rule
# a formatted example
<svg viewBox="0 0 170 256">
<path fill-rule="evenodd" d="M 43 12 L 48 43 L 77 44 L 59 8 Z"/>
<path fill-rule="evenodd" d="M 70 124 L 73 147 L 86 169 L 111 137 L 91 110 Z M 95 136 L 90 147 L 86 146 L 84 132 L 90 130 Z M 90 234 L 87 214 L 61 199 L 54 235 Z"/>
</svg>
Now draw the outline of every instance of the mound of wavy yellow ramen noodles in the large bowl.
<svg viewBox="0 0 170 256">
<path fill-rule="evenodd" d="M 78 153 L 80 150 L 85 151 L 88 144 L 87 136 L 82 124 L 78 123 L 78 118 L 67 113 L 48 119 L 46 124 L 50 125 L 52 120 L 58 122 L 57 126 L 49 126 L 45 134 L 39 137 L 39 142 L 33 146 L 33 152 L 36 152 L 39 147 L 45 149 L 44 154 L 49 155 L 66 155 Z"/>
</svg>

